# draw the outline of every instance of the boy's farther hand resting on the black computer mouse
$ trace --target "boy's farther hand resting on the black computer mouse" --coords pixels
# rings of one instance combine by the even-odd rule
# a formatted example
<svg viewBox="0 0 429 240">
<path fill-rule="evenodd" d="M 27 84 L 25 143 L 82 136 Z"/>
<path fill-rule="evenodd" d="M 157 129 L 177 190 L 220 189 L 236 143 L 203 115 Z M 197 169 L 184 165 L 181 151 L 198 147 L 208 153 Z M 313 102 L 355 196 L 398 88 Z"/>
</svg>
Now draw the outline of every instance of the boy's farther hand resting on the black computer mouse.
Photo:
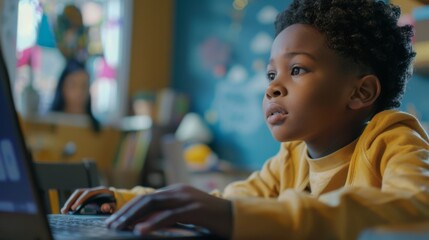
<svg viewBox="0 0 429 240">
<path fill-rule="evenodd" d="M 61 213 L 67 214 L 70 210 L 76 210 L 79 205 L 84 203 L 89 198 L 98 194 L 111 194 L 112 196 L 114 196 L 113 191 L 109 190 L 106 187 L 77 189 L 73 192 L 69 199 L 67 199 L 67 202 L 64 204 L 63 208 L 61 208 Z M 116 204 L 114 202 L 104 203 L 100 206 L 100 210 L 103 213 L 112 213 L 115 211 L 115 209 Z"/>
</svg>

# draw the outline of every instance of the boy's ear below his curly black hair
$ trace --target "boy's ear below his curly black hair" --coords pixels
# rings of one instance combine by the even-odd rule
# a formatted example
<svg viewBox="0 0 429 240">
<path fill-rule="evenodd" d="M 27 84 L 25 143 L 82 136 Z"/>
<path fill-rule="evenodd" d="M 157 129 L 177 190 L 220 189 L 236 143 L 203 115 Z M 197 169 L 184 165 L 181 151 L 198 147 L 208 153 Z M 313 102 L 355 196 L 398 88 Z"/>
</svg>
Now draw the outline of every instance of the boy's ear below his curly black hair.
<svg viewBox="0 0 429 240">
<path fill-rule="evenodd" d="M 380 95 L 380 80 L 375 75 L 365 75 L 358 79 L 350 96 L 349 108 L 361 109 L 372 105 Z"/>
</svg>

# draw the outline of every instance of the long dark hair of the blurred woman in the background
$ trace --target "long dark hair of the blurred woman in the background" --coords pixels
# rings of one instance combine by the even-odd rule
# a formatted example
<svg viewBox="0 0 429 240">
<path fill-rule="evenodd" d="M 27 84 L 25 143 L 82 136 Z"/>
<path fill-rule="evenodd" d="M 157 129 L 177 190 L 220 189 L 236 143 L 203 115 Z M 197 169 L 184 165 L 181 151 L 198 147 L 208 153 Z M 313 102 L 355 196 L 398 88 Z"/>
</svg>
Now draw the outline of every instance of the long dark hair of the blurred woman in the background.
<svg viewBox="0 0 429 240">
<path fill-rule="evenodd" d="M 87 72 L 85 65 L 83 63 L 78 62 L 76 60 L 67 61 L 63 71 L 61 72 L 60 78 L 58 80 L 57 88 L 55 89 L 55 95 L 54 95 L 54 100 L 52 101 L 51 111 L 64 112 L 65 105 L 66 105 L 64 94 L 63 94 L 64 82 L 70 74 L 73 74 L 79 71 Z M 101 129 L 101 126 L 99 121 L 94 117 L 94 114 L 92 113 L 92 110 L 91 110 L 91 95 L 88 96 L 88 100 L 86 101 L 85 112 L 89 116 L 89 119 L 92 124 L 92 128 L 96 132 L 99 132 Z"/>
</svg>

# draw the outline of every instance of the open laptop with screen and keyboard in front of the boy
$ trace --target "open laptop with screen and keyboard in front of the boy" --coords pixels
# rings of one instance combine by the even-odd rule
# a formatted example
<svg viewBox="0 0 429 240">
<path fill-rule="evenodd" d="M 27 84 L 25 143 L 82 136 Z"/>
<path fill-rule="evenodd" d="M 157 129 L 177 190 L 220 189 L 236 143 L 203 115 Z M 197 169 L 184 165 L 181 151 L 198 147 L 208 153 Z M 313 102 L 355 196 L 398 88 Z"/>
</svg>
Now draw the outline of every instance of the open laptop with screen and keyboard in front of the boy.
<svg viewBox="0 0 429 240">
<path fill-rule="evenodd" d="M 208 239 L 205 229 L 181 225 L 137 236 L 104 225 L 106 216 L 47 215 L 27 151 L 0 47 L 0 239 Z"/>
</svg>

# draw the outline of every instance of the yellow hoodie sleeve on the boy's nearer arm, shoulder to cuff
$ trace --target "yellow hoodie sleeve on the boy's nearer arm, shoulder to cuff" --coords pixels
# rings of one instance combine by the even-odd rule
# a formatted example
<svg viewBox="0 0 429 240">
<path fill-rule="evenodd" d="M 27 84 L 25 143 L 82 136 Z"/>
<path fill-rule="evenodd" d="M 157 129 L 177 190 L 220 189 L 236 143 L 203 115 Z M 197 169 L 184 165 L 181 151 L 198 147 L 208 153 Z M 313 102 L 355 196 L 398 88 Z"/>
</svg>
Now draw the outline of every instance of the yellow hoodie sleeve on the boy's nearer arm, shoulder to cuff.
<svg viewBox="0 0 429 240">
<path fill-rule="evenodd" d="M 345 187 L 319 197 L 286 189 L 277 198 L 232 198 L 233 239 L 356 239 L 380 225 L 429 221 L 427 135 L 399 118 L 362 135 Z"/>
</svg>

